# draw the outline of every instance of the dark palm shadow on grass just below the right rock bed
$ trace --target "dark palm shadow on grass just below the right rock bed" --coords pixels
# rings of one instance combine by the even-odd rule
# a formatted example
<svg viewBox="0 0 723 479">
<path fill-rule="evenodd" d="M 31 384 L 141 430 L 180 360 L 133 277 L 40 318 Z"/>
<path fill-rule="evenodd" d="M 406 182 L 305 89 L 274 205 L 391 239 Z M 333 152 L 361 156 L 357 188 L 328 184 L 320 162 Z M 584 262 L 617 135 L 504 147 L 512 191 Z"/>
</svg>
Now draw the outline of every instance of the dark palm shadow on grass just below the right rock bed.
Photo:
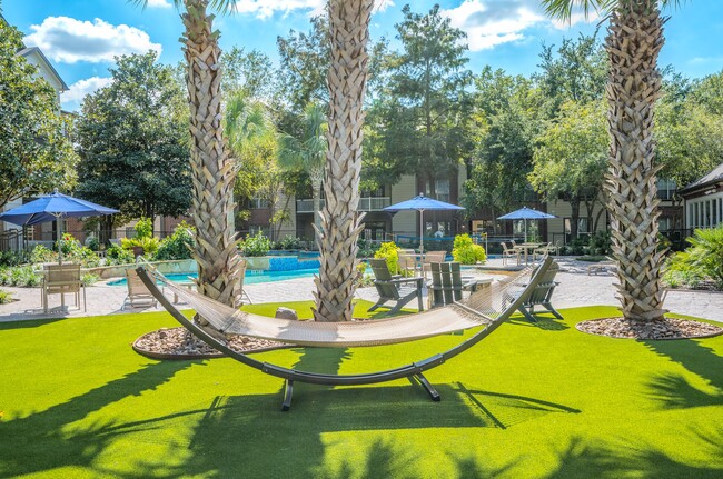
<svg viewBox="0 0 723 479">
<path fill-rule="evenodd" d="M 671 359 L 704 379 L 712 391 L 703 391 L 681 375 L 656 375 L 648 382 L 650 396 L 665 408 L 694 408 L 723 403 L 723 358 L 700 340 L 642 341 L 658 356 Z"/>
</svg>

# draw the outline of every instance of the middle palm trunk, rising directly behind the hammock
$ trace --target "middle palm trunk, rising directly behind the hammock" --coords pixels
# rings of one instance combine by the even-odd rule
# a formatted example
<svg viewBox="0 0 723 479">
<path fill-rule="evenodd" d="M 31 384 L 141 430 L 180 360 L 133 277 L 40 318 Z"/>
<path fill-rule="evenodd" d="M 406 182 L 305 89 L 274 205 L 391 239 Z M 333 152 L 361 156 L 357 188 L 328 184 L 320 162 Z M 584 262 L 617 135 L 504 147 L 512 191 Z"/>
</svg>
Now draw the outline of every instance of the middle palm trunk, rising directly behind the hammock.
<svg viewBox="0 0 723 479">
<path fill-rule="evenodd" d="M 357 237 L 364 228 L 357 207 L 373 4 L 373 0 L 329 0 L 329 149 L 318 232 L 321 267 L 315 279 L 317 321 L 351 320 Z"/>
</svg>

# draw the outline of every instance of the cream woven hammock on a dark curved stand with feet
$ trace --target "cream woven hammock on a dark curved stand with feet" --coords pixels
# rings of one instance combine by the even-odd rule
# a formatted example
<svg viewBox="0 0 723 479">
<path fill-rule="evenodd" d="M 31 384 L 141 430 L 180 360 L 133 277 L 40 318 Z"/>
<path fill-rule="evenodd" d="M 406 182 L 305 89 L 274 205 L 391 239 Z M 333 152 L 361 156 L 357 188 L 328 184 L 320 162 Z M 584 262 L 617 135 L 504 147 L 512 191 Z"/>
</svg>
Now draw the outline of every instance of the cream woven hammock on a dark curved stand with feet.
<svg viewBox="0 0 723 479">
<path fill-rule="evenodd" d="M 385 320 L 351 322 L 295 321 L 258 316 L 230 308 L 176 285 L 148 263 L 139 265 L 137 272 L 164 308 L 204 342 L 247 366 L 285 379 L 286 392 L 281 409 L 288 410 L 295 380 L 317 385 L 348 386 L 407 377 L 418 381 L 432 399 L 438 401 L 438 392 L 424 377 L 423 371 L 459 355 L 497 329 L 527 299 L 552 262 L 552 258 L 547 257 L 531 278 L 526 276 L 529 276 L 532 270 L 523 270 L 518 275 L 482 288 L 466 300 L 454 305 Z M 164 296 L 157 281 L 182 298 L 217 332 L 209 331 L 207 327 L 201 327 L 184 316 Z M 241 335 L 297 346 L 347 348 L 394 345 L 479 327 L 485 328 L 446 352 L 399 368 L 359 375 L 325 375 L 269 365 L 229 348 L 224 339 L 226 335 Z"/>
</svg>

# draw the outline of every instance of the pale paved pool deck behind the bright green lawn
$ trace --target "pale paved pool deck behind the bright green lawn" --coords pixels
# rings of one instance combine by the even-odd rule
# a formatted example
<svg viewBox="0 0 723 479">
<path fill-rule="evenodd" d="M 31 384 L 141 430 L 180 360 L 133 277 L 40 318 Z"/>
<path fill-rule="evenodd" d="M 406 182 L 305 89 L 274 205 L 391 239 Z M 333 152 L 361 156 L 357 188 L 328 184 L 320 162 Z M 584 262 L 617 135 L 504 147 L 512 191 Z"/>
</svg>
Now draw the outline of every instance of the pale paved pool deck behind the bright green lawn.
<svg viewBox="0 0 723 479">
<path fill-rule="evenodd" d="M 615 273 L 601 271 L 588 275 L 588 263 L 575 261 L 570 258 L 559 258 L 561 272 L 557 275 L 558 288 L 553 296 L 555 308 L 571 308 L 578 306 L 612 305 L 618 306 L 615 299 Z M 501 267 L 501 259 L 492 259 L 491 267 Z M 485 276 L 477 271 L 477 276 Z M 127 288 L 108 286 L 99 282 L 87 289 L 87 312 L 75 308 L 72 296 L 66 296 L 66 303 L 71 305 L 68 312 L 60 311 L 60 297 L 50 298 L 50 311 L 44 313 L 40 302 L 40 288 L 11 288 L 0 289 L 13 292 L 12 301 L 0 305 L 0 321 L 18 321 L 27 319 L 75 317 L 75 316 L 107 316 L 128 312 L 160 311 L 162 308 L 127 308 L 121 309 Z M 252 302 L 276 301 L 304 301 L 313 300 L 314 278 L 297 278 L 284 281 L 274 281 L 258 285 L 246 285 L 245 290 Z M 357 290 L 358 298 L 370 301 L 377 300 L 375 288 Z M 426 301 L 425 301 L 426 303 Z M 184 305 L 179 305 L 184 308 Z M 675 313 L 689 315 L 723 322 L 723 292 L 704 291 L 676 291 L 671 290 L 665 299 L 665 307 Z"/>
</svg>

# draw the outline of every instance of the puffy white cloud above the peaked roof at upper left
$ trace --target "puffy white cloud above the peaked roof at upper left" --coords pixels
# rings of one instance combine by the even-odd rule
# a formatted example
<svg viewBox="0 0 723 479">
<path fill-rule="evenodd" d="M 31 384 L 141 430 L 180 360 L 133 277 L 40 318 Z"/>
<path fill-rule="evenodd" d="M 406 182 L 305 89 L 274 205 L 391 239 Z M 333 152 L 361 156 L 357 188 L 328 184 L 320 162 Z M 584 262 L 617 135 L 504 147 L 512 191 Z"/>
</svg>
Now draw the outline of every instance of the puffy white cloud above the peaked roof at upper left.
<svg viewBox="0 0 723 479">
<path fill-rule="evenodd" d="M 26 44 L 37 46 L 52 60 L 63 63 L 98 63 L 120 54 L 161 51 L 160 43 L 152 43 L 145 31 L 127 24 L 113 26 L 99 18 L 90 22 L 48 17 L 30 28 L 33 32 L 24 38 Z"/>
</svg>

